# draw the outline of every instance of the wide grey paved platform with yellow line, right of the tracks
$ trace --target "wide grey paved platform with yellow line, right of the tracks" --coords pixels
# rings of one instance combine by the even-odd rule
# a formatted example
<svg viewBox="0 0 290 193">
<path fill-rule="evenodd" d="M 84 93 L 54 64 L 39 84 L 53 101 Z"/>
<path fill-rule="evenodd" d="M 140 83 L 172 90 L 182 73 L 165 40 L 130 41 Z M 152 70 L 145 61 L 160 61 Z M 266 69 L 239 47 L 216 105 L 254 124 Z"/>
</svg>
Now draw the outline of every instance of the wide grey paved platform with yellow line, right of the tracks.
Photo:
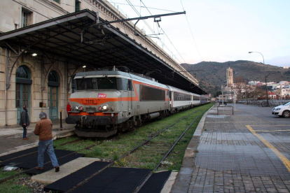
<svg viewBox="0 0 290 193">
<path fill-rule="evenodd" d="M 290 119 L 230 108 L 202 117 L 171 192 L 290 192 Z"/>
</svg>

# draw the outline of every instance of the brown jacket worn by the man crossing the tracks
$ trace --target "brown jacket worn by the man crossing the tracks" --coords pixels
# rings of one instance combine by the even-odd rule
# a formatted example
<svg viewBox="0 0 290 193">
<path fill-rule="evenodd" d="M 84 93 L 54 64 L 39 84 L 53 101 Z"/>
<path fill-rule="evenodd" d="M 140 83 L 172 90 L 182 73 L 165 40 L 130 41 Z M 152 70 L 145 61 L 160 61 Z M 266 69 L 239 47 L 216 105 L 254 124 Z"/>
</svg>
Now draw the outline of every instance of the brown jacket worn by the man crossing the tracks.
<svg viewBox="0 0 290 193">
<path fill-rule="evenodd" d="M 43 119 L 36 123 L 34 134 L 39 136 L 40 141 L 46 141 L 53 138 L 53 122 L 49 119 Z"/>
</svg>

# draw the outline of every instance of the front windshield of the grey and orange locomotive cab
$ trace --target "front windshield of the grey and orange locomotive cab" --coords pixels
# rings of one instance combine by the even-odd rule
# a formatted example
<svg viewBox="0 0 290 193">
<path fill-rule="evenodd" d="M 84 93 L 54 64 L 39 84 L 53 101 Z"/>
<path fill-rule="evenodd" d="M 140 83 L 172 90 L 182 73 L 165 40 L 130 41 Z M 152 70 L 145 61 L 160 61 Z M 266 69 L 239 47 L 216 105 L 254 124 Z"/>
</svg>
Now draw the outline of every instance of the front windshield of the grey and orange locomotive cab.
<svg viewBox="0 0 290 193">
<path fill-rule="evenodd" d="M 77 90 L 117 90 L 116 78 L 77 78 Z"/>
</svg>

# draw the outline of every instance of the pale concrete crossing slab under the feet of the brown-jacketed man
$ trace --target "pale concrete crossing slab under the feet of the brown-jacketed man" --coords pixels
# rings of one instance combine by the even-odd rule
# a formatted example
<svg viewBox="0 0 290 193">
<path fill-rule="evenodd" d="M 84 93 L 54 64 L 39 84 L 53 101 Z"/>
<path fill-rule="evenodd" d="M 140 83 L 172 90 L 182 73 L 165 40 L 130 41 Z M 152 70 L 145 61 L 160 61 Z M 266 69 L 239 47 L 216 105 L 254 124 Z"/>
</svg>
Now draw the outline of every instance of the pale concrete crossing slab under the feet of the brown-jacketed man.
<svg viewBox="0 0 290 193">
<path fill-rule="evenodd" d="M 32 176 L 32 181 L 36 181 L 37 183 L 43 183 L 43 184 L 48 185 L 96 161 L 100 161 L 100 159 L 89 158 L 89 157 L 79 157 L 78 159 L 74 159 L 73 161 L 68 162 L 67 164 L 63 164 L 60 167 L 59 172 L 55 172 L 55 169 L 52 169 L 45 173 Z"/>
</svg>

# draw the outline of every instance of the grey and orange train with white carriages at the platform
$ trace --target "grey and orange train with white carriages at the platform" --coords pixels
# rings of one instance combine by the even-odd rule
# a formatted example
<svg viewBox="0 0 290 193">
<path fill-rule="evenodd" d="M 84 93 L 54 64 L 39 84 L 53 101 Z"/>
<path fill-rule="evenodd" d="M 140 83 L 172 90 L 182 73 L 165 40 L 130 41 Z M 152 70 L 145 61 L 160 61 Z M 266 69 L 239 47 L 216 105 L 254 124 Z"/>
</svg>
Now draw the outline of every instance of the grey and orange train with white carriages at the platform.
<svg viewBox="0 0 290 193">
<path fill-rule="evenodd" d="M 107 138 L 142 123 L 209 103 L 206 96 L 158 83 L 116 66 L 78 72 L 67 124 L 86 138 Z"/>
</svg>

